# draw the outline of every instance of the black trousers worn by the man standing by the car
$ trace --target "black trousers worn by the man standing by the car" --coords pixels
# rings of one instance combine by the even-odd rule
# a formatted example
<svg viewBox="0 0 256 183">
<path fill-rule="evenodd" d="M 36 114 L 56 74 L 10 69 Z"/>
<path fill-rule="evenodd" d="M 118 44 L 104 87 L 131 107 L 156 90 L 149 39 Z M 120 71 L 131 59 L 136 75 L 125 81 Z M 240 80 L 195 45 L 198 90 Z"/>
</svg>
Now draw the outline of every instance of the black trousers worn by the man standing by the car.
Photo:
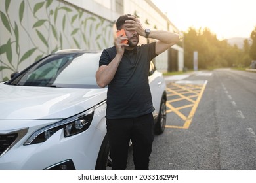
<svg viewBox="0 0 256 183">
<path fill-rule="evenodd" d="M 137 118 L 107 119 L 112 169 L 126 169 L 130 139 L 135 169 L 148 169 L 154 139 L 152 113 Z"/>
</svg>

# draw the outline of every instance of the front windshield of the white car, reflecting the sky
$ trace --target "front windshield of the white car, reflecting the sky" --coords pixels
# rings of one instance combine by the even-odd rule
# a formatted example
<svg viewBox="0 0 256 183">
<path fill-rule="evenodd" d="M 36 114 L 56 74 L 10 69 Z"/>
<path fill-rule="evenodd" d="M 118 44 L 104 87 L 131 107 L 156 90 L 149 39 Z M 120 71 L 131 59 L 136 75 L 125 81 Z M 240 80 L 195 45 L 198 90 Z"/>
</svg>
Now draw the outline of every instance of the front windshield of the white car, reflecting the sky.
<svg viewBox="0 0 256 183">
<path fill-rule="evenodd" d="M 100 53 L 53 54 L 7 84 L 60 88 L 98 88 L 95 73 Z"/>
</svg>

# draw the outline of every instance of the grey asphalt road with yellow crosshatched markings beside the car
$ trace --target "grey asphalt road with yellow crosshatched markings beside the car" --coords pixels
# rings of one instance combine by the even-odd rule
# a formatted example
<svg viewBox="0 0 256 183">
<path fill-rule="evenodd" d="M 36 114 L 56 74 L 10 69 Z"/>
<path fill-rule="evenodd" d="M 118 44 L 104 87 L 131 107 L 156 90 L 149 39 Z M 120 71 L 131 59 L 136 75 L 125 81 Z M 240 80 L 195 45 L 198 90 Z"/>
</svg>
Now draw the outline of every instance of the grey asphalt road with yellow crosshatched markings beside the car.
<svg viewBox="0 0 256 183">
<path fill-rule="evenodd" d="M 184 77 L 182 77 L 184 76 Z M 256 169 L 256 73 L 216 69 L 167 78 L 167 126 L 150 169 Z M 133 169 L 132 150 L 127 169 Z"/>
</svg>

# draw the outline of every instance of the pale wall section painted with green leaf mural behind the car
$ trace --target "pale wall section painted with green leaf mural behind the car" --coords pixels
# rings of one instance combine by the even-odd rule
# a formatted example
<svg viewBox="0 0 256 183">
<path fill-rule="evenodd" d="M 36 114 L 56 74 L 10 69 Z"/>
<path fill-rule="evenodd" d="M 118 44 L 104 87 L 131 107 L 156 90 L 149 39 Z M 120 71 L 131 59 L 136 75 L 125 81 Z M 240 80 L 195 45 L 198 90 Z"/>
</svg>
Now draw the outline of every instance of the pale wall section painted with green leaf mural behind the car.
<svg viewBox="0 0 256 183">
<path fill-rule="evenodd" d="M 113 22 L 61 0 L 1 0 L 0 18 L 0 81 L 56 50 L 103 49 L 114 41 Z"/>
</svg>

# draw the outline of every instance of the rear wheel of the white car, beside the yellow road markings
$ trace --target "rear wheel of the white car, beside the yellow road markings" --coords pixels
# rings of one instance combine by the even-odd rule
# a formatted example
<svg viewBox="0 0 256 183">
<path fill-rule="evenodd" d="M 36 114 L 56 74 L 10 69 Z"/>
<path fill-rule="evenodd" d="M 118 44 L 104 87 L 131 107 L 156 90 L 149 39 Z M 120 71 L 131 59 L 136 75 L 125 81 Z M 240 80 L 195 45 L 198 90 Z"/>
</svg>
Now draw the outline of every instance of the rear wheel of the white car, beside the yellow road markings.
<svg viewBox="0 0 256 183">
<path fill-rule="evenodd" d="M 166 124 L 166 101 L 161 99 L 160 112 L 158 116 L 158 121 L 155 124 L 155 133 L 160 135 L 165 130 Z"/>
</svg>

